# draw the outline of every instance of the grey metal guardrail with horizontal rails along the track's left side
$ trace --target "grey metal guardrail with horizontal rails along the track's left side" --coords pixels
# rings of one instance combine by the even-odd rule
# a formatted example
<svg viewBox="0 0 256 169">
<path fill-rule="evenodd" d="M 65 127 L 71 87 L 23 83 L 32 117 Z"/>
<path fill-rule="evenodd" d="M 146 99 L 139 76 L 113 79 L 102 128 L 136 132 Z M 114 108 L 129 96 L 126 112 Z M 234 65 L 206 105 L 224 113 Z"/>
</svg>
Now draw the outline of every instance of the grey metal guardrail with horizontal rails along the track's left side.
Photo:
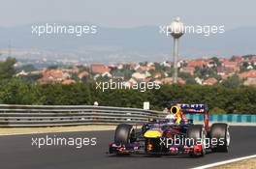
<svg viewBox="0 0 256 169">
<path fill-rule="evenodd" d="M 0 127 L 138 124 L 163 115 L 162 112 L 124 107 L 0 104 Z"/>
</svg>

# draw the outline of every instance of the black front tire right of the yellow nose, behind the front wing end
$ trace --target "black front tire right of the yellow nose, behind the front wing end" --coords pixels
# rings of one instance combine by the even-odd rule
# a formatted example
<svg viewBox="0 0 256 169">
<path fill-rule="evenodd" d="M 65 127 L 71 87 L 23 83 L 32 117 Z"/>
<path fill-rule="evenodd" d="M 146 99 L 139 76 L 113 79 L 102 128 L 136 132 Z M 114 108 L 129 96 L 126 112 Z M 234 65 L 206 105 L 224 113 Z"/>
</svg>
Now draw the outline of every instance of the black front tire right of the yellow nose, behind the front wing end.
<svg viewBox="0 0 256 169">
<path fill-rule="evenodd" d="M 187 128 L 186 135 L 187 135 L 187 138 L 189 138 L 190 140 L 194 140 L 194 141 L 191 141 L 189 143 L 186 143 L 189 146 L 196 145 L 196 143 L 199 142 L 199 141 L 202 142 L 202 152 L 201 152 L 201 155 L 194 155 L 194 153 L 191 153 L 189 155 L 193 156 L 193 157 L 206 155 L 206 137 L 207 137 L 207 132 L 206 132 L 205 127 L 203 125 L 191 126 L 191 127 Z"/>
</svg>

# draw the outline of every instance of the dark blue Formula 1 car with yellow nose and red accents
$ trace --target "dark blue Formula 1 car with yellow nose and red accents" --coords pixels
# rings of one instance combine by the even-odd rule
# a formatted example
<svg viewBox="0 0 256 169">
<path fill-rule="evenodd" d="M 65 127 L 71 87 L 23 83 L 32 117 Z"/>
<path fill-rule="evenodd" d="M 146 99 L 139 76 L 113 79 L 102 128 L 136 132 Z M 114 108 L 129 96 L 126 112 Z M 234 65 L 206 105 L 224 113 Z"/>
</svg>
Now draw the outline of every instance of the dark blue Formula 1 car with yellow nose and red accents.
<svg viewBox="0 0 256 169">
<path fill-rule="evenodd" d="M 120 124 L 116 127 L 114 141 L 109 153 L 115 155 L 180 155 L 203 156 L 211 152 L 228 152 L 230 145 L 229 126 L 224 123 L 208 126 L 206 104 L 175 103 L 184 113 L 204 114 L 204 125 L 195 125 L 193 120 L 176 124 L 168 119 L 154 119 L 135 129 L 132 125 Z M 171 112 L 176 114 L 174 105 Z"/>
</svg>

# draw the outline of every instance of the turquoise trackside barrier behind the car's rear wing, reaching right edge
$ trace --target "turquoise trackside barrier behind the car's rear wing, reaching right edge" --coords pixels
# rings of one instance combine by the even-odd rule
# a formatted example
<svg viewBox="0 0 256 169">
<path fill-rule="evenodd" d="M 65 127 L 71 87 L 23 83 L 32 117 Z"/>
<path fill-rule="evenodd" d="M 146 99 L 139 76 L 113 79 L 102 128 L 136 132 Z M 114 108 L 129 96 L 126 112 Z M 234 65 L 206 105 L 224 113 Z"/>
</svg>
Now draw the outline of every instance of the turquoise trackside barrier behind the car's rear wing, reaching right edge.
<svg viewBox="0 0 256 169">
<path fill-rule="evenodd" d="M 203 121 L 204 116 L 202 114 L 188 114 L 188 119 L 194 121 Z M 256 115 L 248 114 L 214 114 L 209 115 L 209 121 L 211 122 L 234 122 L 234 123 L 256 123 Z"/>
</svg>

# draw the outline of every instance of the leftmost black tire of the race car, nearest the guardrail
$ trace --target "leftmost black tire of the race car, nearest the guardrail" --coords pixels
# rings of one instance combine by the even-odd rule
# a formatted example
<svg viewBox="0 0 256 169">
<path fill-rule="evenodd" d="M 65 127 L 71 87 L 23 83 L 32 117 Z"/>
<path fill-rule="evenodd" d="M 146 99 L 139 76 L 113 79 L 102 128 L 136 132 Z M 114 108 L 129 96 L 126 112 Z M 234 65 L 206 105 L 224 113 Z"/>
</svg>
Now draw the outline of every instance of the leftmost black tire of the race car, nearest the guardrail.
<svg viewBox="0 0 256 169">
<path fill-rule="evenodd" d="M 115 128 L 114 143 L 128 144 L 135 141 L 135 130 L 132 125 L 120 124 Z"/>
</svg>

